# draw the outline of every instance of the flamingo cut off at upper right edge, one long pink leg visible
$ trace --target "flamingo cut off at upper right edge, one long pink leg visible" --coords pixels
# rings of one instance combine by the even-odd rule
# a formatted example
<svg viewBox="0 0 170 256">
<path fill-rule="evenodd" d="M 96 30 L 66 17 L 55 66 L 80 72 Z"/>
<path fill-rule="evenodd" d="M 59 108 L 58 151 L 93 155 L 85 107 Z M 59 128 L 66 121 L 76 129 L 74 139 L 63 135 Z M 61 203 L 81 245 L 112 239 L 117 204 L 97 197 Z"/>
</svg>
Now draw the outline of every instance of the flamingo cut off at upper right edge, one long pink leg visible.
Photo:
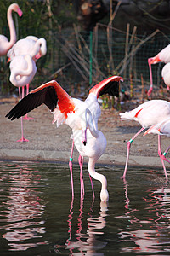
<svg viewBox="0 0 170 256">
<path fill-rule="evenodd" d="M 170 62 L 170 44 L 168 44 L 167 47 L 165 47 L 164 49 L 161 49 L 161 51 L 156 56 L 148 59 L 148 64 L 150 69 L 150 90 L 148 90 L 148 96 L 150 96 L 153 90 L 151 64 L 156 64 L 158 62 L 164 62 L 164 63 Z"/>
</svg>

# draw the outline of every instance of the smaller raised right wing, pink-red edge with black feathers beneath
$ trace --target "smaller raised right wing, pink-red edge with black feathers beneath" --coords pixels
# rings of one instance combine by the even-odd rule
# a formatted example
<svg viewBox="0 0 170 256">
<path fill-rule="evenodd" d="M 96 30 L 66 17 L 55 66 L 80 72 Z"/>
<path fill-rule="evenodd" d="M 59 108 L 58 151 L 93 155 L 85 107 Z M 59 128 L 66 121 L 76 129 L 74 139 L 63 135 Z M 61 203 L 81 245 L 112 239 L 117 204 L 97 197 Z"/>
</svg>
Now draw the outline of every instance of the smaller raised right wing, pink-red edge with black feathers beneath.
<svg viewBox="0 0 170 256">
<path fill-rule="evenodd" d="M 97 98 L 104 94 L 109 94 L 111 96 L 119 96 L 119 81 L 123 81 L 122 77 L 112 76 L 111 78 L 101 81 L 99 84 L 96 84 L 90 91 Z"/>
</svg>

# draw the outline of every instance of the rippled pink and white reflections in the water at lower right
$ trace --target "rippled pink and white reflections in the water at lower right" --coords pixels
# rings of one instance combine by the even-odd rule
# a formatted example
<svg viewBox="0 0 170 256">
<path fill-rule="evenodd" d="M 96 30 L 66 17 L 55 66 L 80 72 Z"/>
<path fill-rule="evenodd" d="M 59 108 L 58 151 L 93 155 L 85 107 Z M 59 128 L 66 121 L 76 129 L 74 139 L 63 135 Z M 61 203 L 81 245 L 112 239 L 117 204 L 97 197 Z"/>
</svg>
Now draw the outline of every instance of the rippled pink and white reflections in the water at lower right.
<svg viewBox="0 0 170 256">
<path fill-rule="evenodd" d="M 145 207 L 136 209 L 131 206 L 128 198 L 128 185 L 124 181 L 125 189 L 125 216 L 127 218 L 126 230 L 120 229 L 119 242 L 126 241 L 127 247 L 122 247 L 122 253 L 157 253 L 163 252 L 165 244 L 169 247 L 169 238 L 166 237 L 166 218 L 170 216 L 170 189 L 164 184 L 161 189 L 147 189 L 143 200 Z M 143 205 L 143 206 L 144 206 Z M 142 218 L 141 218 L 142 216 Z M 166 218 L 165 218 L 166 217 Z M 148 229 L 150 226 L 150 229 Z M 165 234 L 164 234 L 165 233 Z"/>
</svg>

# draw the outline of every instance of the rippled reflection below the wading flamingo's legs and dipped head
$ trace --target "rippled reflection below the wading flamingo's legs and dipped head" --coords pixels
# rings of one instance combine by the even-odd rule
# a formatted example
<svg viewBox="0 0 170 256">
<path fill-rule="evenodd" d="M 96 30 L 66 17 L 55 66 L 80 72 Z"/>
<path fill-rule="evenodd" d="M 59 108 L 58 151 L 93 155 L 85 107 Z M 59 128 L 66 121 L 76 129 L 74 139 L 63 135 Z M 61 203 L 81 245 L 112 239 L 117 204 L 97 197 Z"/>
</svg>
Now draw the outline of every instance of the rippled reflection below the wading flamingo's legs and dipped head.
<svg viewBox="0 0 170 256">
<path fill-rule="evenodd" d="M 71 209 L 68 219 L 68 239 L 65 242 L 65 245 L 54 245 L 54 252 L 61 253 L 62 249 L 69 250 L 71 255 L 104 255 L 105 253 L 101 253 L 98 251 L 104 248 L 107 245 L 107 242 L 99 240 L 99 236 L 104 235 L 104 228 L 105 228 L 105 217 L 107 216 L 106 212 L 108 210 L 108 203 L 101 201 L 100 202 L 100 212 L 98 218 L 93 218 L 94 212 L 94 200 L 92 202 L 92 207 L 90 208 L 90 212 L 88 213 L 89 218 L 87 218 L 88 228 L 86 233 L 82 233 L 82 220 L 84 222 L 83 217 L 83 198 L 80 201 L 80 209 L 79 209 L 79 216 L 77 218 L 77 232 L 73 234 L 71 230 L 74 228 L 72 224 L 73 220 L 73 202 L 74 199 L 71 201 Z M 76 239 L 75 239 L 76 237 Z M 76 240 L 76 241 L 75 241 Z"/>
</svg>

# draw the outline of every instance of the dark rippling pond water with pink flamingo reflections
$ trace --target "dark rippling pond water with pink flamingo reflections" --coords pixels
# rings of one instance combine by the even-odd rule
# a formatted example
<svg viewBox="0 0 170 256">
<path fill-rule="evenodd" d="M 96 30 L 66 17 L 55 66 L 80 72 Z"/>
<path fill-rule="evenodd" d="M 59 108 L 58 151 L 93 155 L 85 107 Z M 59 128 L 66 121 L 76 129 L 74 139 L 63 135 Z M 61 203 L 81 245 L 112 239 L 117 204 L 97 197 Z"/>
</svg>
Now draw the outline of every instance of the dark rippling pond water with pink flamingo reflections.
<svg viewBox="0 0 170 256">
<path fill-rule="evenodd" d="M 170 185 L 163 171 L 99 166 L 109 203 L 92 195 L 87 165 L 80 200 L 79 166 L 0 162 L 0 255 L 169 255 Z"/>
</svg>

